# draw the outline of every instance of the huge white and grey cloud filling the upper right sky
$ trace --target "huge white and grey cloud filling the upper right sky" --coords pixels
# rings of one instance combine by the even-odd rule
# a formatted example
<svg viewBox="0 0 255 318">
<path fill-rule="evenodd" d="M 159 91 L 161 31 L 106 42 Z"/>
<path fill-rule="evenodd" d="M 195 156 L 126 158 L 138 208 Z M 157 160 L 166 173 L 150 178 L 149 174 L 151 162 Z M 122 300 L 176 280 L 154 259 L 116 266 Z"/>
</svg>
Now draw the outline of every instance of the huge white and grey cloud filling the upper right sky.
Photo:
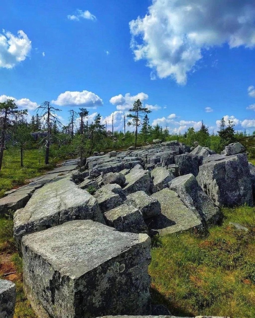
<svg viewBox="0 0 255 318">
<path fill-rule="evenodd" d="M 135 60 L 145 59 L 159 78 L 185 84 L 203 49 L 253 48 L 254 19 L 254 0 L 154 0 L 143 18 L 129 22 L 130 46 Z"/>
</svg>

